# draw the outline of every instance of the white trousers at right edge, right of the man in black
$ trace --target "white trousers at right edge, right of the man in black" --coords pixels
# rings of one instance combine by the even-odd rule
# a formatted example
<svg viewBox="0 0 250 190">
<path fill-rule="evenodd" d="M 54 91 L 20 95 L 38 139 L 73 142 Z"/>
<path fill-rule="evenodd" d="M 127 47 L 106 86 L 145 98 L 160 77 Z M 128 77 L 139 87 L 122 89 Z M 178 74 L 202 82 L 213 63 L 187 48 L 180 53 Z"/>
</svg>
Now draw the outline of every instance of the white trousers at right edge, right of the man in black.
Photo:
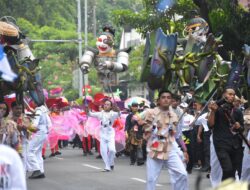
<svg viewBox="0 0 250 190">
<path fill-rule="evenodd" d="M 248 140 L 250 140 L 250 131 L 248 132 Z M 244 149 L 241 180 L 250 182 L 250 150 L 247 146 Z"/>
</svg>

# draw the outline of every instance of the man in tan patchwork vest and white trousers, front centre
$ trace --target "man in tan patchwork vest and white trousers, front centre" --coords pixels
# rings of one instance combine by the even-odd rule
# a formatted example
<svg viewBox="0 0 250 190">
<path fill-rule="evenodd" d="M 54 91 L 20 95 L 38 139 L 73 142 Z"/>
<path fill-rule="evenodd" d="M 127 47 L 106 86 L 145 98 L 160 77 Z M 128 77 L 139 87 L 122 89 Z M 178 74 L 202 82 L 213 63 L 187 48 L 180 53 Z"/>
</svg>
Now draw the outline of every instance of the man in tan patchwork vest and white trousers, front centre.
<svg viewBox="0 0 250 190">
<path fill-rule="evenodd" d="M 144 122 L 144 138 L 148 139 L 147 149 L 147 190 L 154 190 L 163 166 L 170 173 L 174 190 L 187 190 L 188 179 L 184 163 L 175 143 L 177 115 L 171 110 L 172 94 L 161 91 L 158 106 L 141 113 Z"/>
</svg>

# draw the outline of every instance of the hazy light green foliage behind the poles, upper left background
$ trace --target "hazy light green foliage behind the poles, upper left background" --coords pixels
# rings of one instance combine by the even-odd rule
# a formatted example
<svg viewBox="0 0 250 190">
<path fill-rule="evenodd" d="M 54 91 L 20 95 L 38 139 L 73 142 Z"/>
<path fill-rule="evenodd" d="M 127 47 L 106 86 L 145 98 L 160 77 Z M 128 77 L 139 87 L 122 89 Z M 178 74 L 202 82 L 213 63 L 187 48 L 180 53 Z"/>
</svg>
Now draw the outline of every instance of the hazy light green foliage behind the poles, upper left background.
<svg viewBox="0 0 250 190">
<path fill-rule="evenodd" d="M 140 0 L 92 0 L 88 1 L 88 46 L 95 47 L 94 5 L 96 6 L 97 33 L 106 23 L 112 24 L 114 9 L 142 9 Z M 81 0 L 82 28 L 84 28 L 84 1 Z M 0 17 L 12 16 L 20 30 L 29 39 L 75 40 L 77 35 L 77 2 L 75 0 L 1 0 Z M 116 27 L 115 27 L 116 28 Z M 119 45 L 122 28 L 117 28 L 115 41 Z M 82 34 L 82 39 L 84 35 Z M 35 57 L 40 58 L 43 85 L 47 89 L 61 86 L 64 95 L 73 100 L 78 90 L 72 87 L 72 71 L 78 68 L 78 44 L 30 42 Z M 83 48 L 84 49 L 84 48 Z M 95 69 L 89 73 L 92 93 L 101 91 Z"/>
</svg>

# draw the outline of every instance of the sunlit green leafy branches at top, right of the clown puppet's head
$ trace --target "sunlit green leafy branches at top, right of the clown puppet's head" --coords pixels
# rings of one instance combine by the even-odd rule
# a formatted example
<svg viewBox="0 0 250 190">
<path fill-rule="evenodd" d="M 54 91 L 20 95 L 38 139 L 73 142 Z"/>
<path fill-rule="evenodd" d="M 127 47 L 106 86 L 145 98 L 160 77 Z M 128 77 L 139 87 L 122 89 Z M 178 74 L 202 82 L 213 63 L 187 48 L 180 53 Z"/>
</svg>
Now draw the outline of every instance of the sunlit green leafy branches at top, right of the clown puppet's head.
<svg viewBox="0 0 250 190">
<path fill-rule="evenodd" d="M 191 10 L 197 9 L 191 0 L 180 0 L 170 10 L 159 13 L 155 9 L 158 1 L 143 0 L 144 9 L 139 12 L 131 10 L 115 10 L 112 12 L 113 20 L 117 25 L 137 28 L 145 37 L 147 32 L 155 31 L 161 27 L 165 32 L 179 32 L 182 34 L 185 22 L 191 17 Z M 176 20 L 176 13 L 183 17 Z M 173 22 L 174 20 L 174 22 Z"/>
</svg>

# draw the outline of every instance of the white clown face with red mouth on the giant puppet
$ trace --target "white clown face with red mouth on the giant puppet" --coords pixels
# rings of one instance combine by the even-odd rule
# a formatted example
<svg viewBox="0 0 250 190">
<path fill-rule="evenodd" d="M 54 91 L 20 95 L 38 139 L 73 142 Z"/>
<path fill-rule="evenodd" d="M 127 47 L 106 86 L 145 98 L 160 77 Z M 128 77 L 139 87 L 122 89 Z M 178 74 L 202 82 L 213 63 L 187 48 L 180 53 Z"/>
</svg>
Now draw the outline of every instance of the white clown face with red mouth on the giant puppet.
<svg viewBox="0 0 250 190">
<path fill-rule="evenodd" d="M 97 38 L 96 46 L 100 53 L 108 53 L 112 50 L 113 40 L 107 35 L 100 35 Z"/>
</svg>

